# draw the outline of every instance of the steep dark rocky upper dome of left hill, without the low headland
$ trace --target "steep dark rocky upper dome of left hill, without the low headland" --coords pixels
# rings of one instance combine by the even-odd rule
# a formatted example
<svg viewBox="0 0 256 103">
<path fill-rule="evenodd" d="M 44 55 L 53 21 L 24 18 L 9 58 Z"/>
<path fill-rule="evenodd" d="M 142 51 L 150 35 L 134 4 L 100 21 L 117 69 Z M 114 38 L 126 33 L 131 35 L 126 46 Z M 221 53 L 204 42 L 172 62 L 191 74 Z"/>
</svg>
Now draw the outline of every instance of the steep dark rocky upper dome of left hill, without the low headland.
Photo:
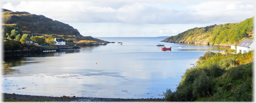
<svg viewBox="0 0 256 103">
<path fill-rule="evenodd" d="M 14 25 L 27 34 L 55 34 L 82 36 L 77 29 L 59 21 L 53 21 L 43 15 L 30 14 L 28 12 L 12 12 L 3 9 L 3 25 Z"/>
</svg>

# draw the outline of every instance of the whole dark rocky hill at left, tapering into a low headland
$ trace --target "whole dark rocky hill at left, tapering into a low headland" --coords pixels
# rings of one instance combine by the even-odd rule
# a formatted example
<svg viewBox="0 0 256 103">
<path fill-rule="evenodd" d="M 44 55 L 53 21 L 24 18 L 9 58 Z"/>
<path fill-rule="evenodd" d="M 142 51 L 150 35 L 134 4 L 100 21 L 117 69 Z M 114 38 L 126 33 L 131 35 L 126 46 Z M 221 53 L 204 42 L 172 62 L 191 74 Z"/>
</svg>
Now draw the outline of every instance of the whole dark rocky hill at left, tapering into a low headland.
<svg viewBox="0 0 256 103">
<path fill-rule="evenodd" d="M 13 29 L 16 29 L 21 36 L 28 34 L 30 36 L 55 36 L 56 38 L 72 39 L 73 41 L 93 40 L 96 42 L 104 42 L 91 36 L 82 36 L 77 29 L 59 21 L 53 21 L 43 15 L 30 14 L 28 12 L 12 12 L 2 9 L 2 25 L 3 35 L 8 37 Z M 6 26 L 6 27 L 5 27 Z"/>
</svg>

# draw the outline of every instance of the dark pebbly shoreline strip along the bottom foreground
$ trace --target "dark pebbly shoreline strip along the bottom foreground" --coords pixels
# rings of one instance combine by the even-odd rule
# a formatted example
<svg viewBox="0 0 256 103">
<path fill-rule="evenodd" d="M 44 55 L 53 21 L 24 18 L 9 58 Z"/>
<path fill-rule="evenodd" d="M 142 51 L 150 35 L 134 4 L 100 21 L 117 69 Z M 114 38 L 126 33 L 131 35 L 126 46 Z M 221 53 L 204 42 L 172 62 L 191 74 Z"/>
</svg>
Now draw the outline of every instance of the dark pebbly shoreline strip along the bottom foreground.
<svg viewBox="0 0 256 103">
<path fill-rule="evenodd" d="M 52 97 L 52 96 L 35 96 L 35 95 L 17 95 L 3 93 L 3 99 L 18 99 L 18 100 L 42 100 L 49 99 L 57 102 L 140 102 L 140 101 L 158 101 L 163 102 L 164 98 L 141 98 L 141 99 L 122 99 L 122 98 L 94 98 L 94 97 Z"/>
</svg>

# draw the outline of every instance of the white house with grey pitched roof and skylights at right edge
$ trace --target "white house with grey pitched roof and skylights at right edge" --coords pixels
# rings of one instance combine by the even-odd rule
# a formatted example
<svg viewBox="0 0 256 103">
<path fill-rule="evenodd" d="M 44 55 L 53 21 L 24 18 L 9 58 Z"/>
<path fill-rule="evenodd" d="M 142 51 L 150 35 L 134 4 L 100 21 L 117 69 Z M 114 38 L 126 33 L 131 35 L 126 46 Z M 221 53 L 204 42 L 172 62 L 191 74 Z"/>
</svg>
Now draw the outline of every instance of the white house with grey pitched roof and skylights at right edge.
<svg viewBox="0 0 256 103">
<path fill-rule="evenodd" d="M 236 53 L 246 53 L 251 50 L 254 50 L 254 47 L 256 46 L 254 42 L 254 39 L 244 39 L 239 45 L 236 47 Z"/>
</svg>

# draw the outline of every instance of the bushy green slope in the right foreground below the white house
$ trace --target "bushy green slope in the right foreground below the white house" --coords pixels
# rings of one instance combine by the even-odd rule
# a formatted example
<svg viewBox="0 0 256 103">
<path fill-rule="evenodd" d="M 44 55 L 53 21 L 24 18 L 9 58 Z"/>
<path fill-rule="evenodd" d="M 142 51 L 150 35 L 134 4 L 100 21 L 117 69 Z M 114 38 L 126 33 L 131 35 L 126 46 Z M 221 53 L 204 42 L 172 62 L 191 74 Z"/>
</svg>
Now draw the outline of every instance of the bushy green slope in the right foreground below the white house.
<svg viewBox="0 0 256 103">
<path fill-rule="evenodd" d="M 165 101 L 252 101 L 253 51 L 222 55 L 206 52 L 183 74 Z"/>
</svg>

